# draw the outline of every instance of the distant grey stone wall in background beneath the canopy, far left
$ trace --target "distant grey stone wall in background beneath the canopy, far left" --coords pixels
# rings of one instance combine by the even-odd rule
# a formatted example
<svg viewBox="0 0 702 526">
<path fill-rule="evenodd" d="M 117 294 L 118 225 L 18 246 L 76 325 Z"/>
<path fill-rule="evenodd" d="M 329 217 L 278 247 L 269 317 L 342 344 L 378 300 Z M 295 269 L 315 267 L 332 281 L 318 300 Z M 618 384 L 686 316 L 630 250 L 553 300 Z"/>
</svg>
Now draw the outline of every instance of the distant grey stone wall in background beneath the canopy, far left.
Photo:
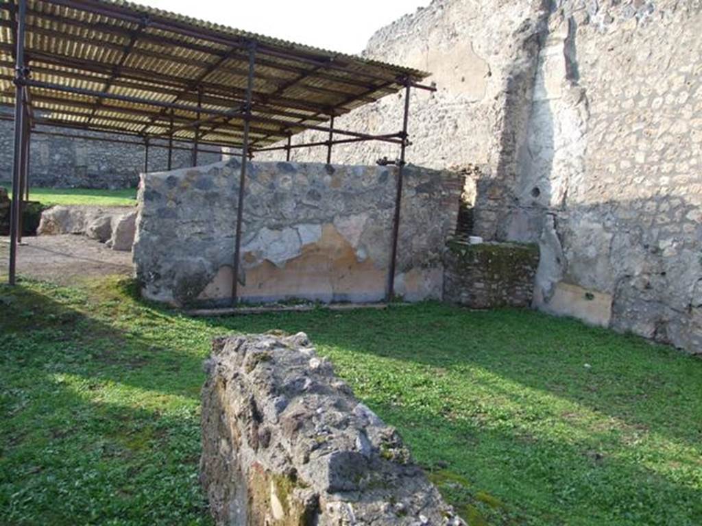
<svg viewBox="0 0 702 526">
<path fill-rule="evenodd" d="M 0 181 L 12 180 L 13 122 L 0 121 Z M 121 135 L 88 133 L 81 130 L 52 128 L 42 130 L 72 135 L 93 135 L 128 139 Z M 161 144 L 166 144 L 161 141 Z M 51 135 L 32 135 L 30 145 L 29 182 L 35 187 L 51 188 L 135 188 L 144 169 L 144 147 L 137 144 L 80 140 Z M 221 154 L 200 153 L 198 164 L 220 161 Z M 190 166 L 191 153 L 173 150 L 173 168 Z M 150 147 L 149 170 L 165 170 L 168 150 Z M 9 187 L 9 184 L 8 184 Z"/>
</svg>

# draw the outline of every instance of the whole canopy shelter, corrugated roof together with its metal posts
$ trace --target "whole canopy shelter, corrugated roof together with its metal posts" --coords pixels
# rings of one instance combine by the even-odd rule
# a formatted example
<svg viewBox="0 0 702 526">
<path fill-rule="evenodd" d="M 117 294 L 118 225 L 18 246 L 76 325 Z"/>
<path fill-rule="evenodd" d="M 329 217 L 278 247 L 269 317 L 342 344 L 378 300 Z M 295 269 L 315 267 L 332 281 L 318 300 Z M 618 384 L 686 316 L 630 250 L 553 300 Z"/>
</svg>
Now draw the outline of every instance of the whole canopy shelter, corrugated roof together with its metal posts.
<svg viewBox="0 0 702 526">
<path fill-rule="evenodd" d="M 32 6 L 29 23 L 27 4 Z M 133 137 L 133 140 L 114 137 L 99 140 L 142 144 L 145 147 L 144 170 L 149 169 L 152 147 L 168 148 L 168 168 L 171 168 L 173 150 L 187 149 L 174 144 L 176 141 L 192 144 L 192 163 L 197 163 L 199 151 L 208 151 L 201 149 L 201 144 L 240 148 L 243 159 L 239 174 L 232 303 L 238 300 L 247 159 L 255 151 L 284 149 L 286 159 L 290 159 L 292 149 L 325 146 L 327 162 L 331 163 L 331 151 L 335 144 L 373 140 L 399 144 L 401 153 L 395 161 L 399 169 L 388 283 L 388 298 L 392 299 L 402 172 L 405 149 L 409 144 L 409 92 L 413 87 L 433 89 L 418 83 L 425 74 L 324 50 L 279 43 L 267 37 L 237 33 L 234 29 L 205 27 L 204 22 L 182 20 L 176 15 L 130 4 L 110 4 L 103 0 L 12 0 L 0 4 L 0 9 L 3 8 L 9 9 L 16 18 L 18 36 L 16 46 L 7 41 L 0 42 L 0 50 L 15 52 L 16 72 L 13 191 L 19 198 L 15 199 L 18 203 L 13 205 L 12 210 L 15 243 L 11 246 L 12 283 L 15 280 L 16 241 L 21 235 L 18 213 L 21 213 L 22 194 L 25 189 L 28 191 L 29 128 L 37 124 Z M 84 14 L 80 15 L 81 12 Z M 95 21 L 94 15 L 98 15 L 98 21 Z M 9 23 L 12 25 L 12 22 Z M 118 38 L 110 37 L 107 41 L 97 38 L 93 42 L 88 38 L 91 34 L 84 32 L 84 29 L 77 34 L 80 32 L 67 30 L 62 25 L 64 23 Z M 7 21 L 0 21 L 0 26 L 7 24 Z M 37 40 L 36 36 L 29 34 L 25 49 L 28 27 L 36 34 L 48 36 L 49 40 Z M 62 38 L 63 43 L 53 46 L 50 40 L 53 34 L 58 41 Z M 147 47 L 142 41 L 160 46 Z M 81 51 L 84 58 L 66 55 L 65 46 L 70 48 L 75 45 L 85 51 Z M 93 46 L 93 50 L 90 46 Z M 183 62 L 187 62 L 180 69 L 174 67 L 178 65 L 180 55 L 176 54 L 174 58 L 167 53 L 174 51 L 174 46 L 202 54 L 178 52 L 183 55 Z M 121 55 L 114 53 L 115 50 L 120 50 Z M 244 54 L 249 65 L 246 87 L 239 87 L 241 83 L 227 85 L 231 79 L 244 79 L 244 69 L 237 64 L 237 61 L 243 62 Z M 207 57 L 204 65 L 195 60 L 198 56 Z M 131 57 L 136 60 L 130 60 Z M 149 57 L 161 62 L 143 60 Z M 37 65 L 37 74 L 41 79 L 29 79 L 27 65 L 30 60 L 32 65 Z M 231 63 L 227 65 L 230 60 Z M 259 65 L 263 71 L 256 72 Z M 7 61 L 0 63 L 0 67 L 8 66 Z M 195 67 L 201 67 L 201 71 L 198 72 Z M 284 74 L 277 76 L 272 71 Z M 223 75 L 214 75 L 215 72 L 222 72 Z M 7 76 L 5 70 L 0 74 L 0 79 Z M 59 80 L 54 81 L 52 76 Z M 66 79 L 76 82 L 67 82 Z M 312 84 L 308 79 L 315 79 L 318 84 Z M 326 84 L 323 80 L 327 81 Z M 91 89 L 91 83 L 101 88 Z M 336 128 L 336 116 L 349 112 L 359 103 L 374 102 L 383 95 L 395 93 L 401 86 L 404 86 L 406 95 L 403 129 L 399 133 L 373 135 Z M 58 96 L 60 94 L 63 96 Z M 8 98 L 3 93 L 0 93 L 0 97 L 4 100 Z M 32 99 L 36 102 L 32 103 Z M 41 114 L 33 119 L 30 113 L 34 109 L 53 112 L 53 117 L 49 113 L 48 117 Z M 86 111 L 82 112 L 81 109 Z M 75 117 L 84 120 L 76 122 Z M 0 119 L 4 117 L 0 116 Z M 329 126 L 323 124 L 326 120 L 330 121 Z M 161 129 L 164 131 L 161 132 Z M 192 133 L 189 131 L 191 129 Z M 291 135 L 299 130 L 324 132 L 328 134 L 328 139 L 293 146 Z M 42 132 L 37 130 L 37 133 Z M 75 137 L 98 140 L 80 135 Z M 160 143 L 166 138 L 167 146 Z M 266 144 L 279 138 L 288 140 L 286 146 L 266 147 Z M 257 147 L 258 144 L 261 146 Z"/>
</svg>

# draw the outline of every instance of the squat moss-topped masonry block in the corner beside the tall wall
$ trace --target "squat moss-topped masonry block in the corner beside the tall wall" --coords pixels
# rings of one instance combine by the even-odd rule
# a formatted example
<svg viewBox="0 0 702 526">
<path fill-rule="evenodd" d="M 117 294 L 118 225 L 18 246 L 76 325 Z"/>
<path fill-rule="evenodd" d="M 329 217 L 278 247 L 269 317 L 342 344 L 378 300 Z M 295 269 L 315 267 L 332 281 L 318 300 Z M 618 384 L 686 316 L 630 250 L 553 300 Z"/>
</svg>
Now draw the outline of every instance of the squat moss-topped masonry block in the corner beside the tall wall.
<svg viewBox="0 0 702 526">
<path fill-rule="evenodd" d="M 538 247 L 450 241 L 444 255 L 444 300 L 473 309 L 529 307 Z"/>
</svg>

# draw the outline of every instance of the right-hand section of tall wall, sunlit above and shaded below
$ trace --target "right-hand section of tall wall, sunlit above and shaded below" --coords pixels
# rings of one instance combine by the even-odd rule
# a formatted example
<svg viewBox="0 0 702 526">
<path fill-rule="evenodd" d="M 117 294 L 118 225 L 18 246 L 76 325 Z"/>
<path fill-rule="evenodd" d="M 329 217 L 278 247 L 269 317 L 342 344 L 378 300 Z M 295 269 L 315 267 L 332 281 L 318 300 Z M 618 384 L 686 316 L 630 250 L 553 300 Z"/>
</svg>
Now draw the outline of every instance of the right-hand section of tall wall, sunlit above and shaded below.
<svg viewBox="0 0 702 526">
<path fill-rule="evenodd" d="M 539 54 L 505 238 L 536 305 L 702 352 L 702 4 L 564 1 Z"/>
</svg>

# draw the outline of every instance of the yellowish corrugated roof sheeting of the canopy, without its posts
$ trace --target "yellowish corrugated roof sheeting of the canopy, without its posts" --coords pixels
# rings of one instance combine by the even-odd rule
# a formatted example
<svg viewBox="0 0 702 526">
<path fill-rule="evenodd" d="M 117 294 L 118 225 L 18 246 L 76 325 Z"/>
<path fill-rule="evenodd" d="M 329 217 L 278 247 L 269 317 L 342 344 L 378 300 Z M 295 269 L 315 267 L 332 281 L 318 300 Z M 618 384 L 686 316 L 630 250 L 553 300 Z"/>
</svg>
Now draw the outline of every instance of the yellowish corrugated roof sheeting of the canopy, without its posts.
<svg viewBox="0 0 702 526">
<path fill-rule="evenodd" d="M 17 4 L 0 4 L 0 104 L 14 98 Z M 200 119 L 201 142 L 237 144 L 243 119 L 221 114 L 244 100 L 251 43 L 255 147 L 428 76 L 119 0 L 27 0 L 26 28 L 31 80 L 55 86 L 29 86 L 35 116 L 94 130 L 163 135 L 172 120 L 187 140 Z"/>
</svg>

